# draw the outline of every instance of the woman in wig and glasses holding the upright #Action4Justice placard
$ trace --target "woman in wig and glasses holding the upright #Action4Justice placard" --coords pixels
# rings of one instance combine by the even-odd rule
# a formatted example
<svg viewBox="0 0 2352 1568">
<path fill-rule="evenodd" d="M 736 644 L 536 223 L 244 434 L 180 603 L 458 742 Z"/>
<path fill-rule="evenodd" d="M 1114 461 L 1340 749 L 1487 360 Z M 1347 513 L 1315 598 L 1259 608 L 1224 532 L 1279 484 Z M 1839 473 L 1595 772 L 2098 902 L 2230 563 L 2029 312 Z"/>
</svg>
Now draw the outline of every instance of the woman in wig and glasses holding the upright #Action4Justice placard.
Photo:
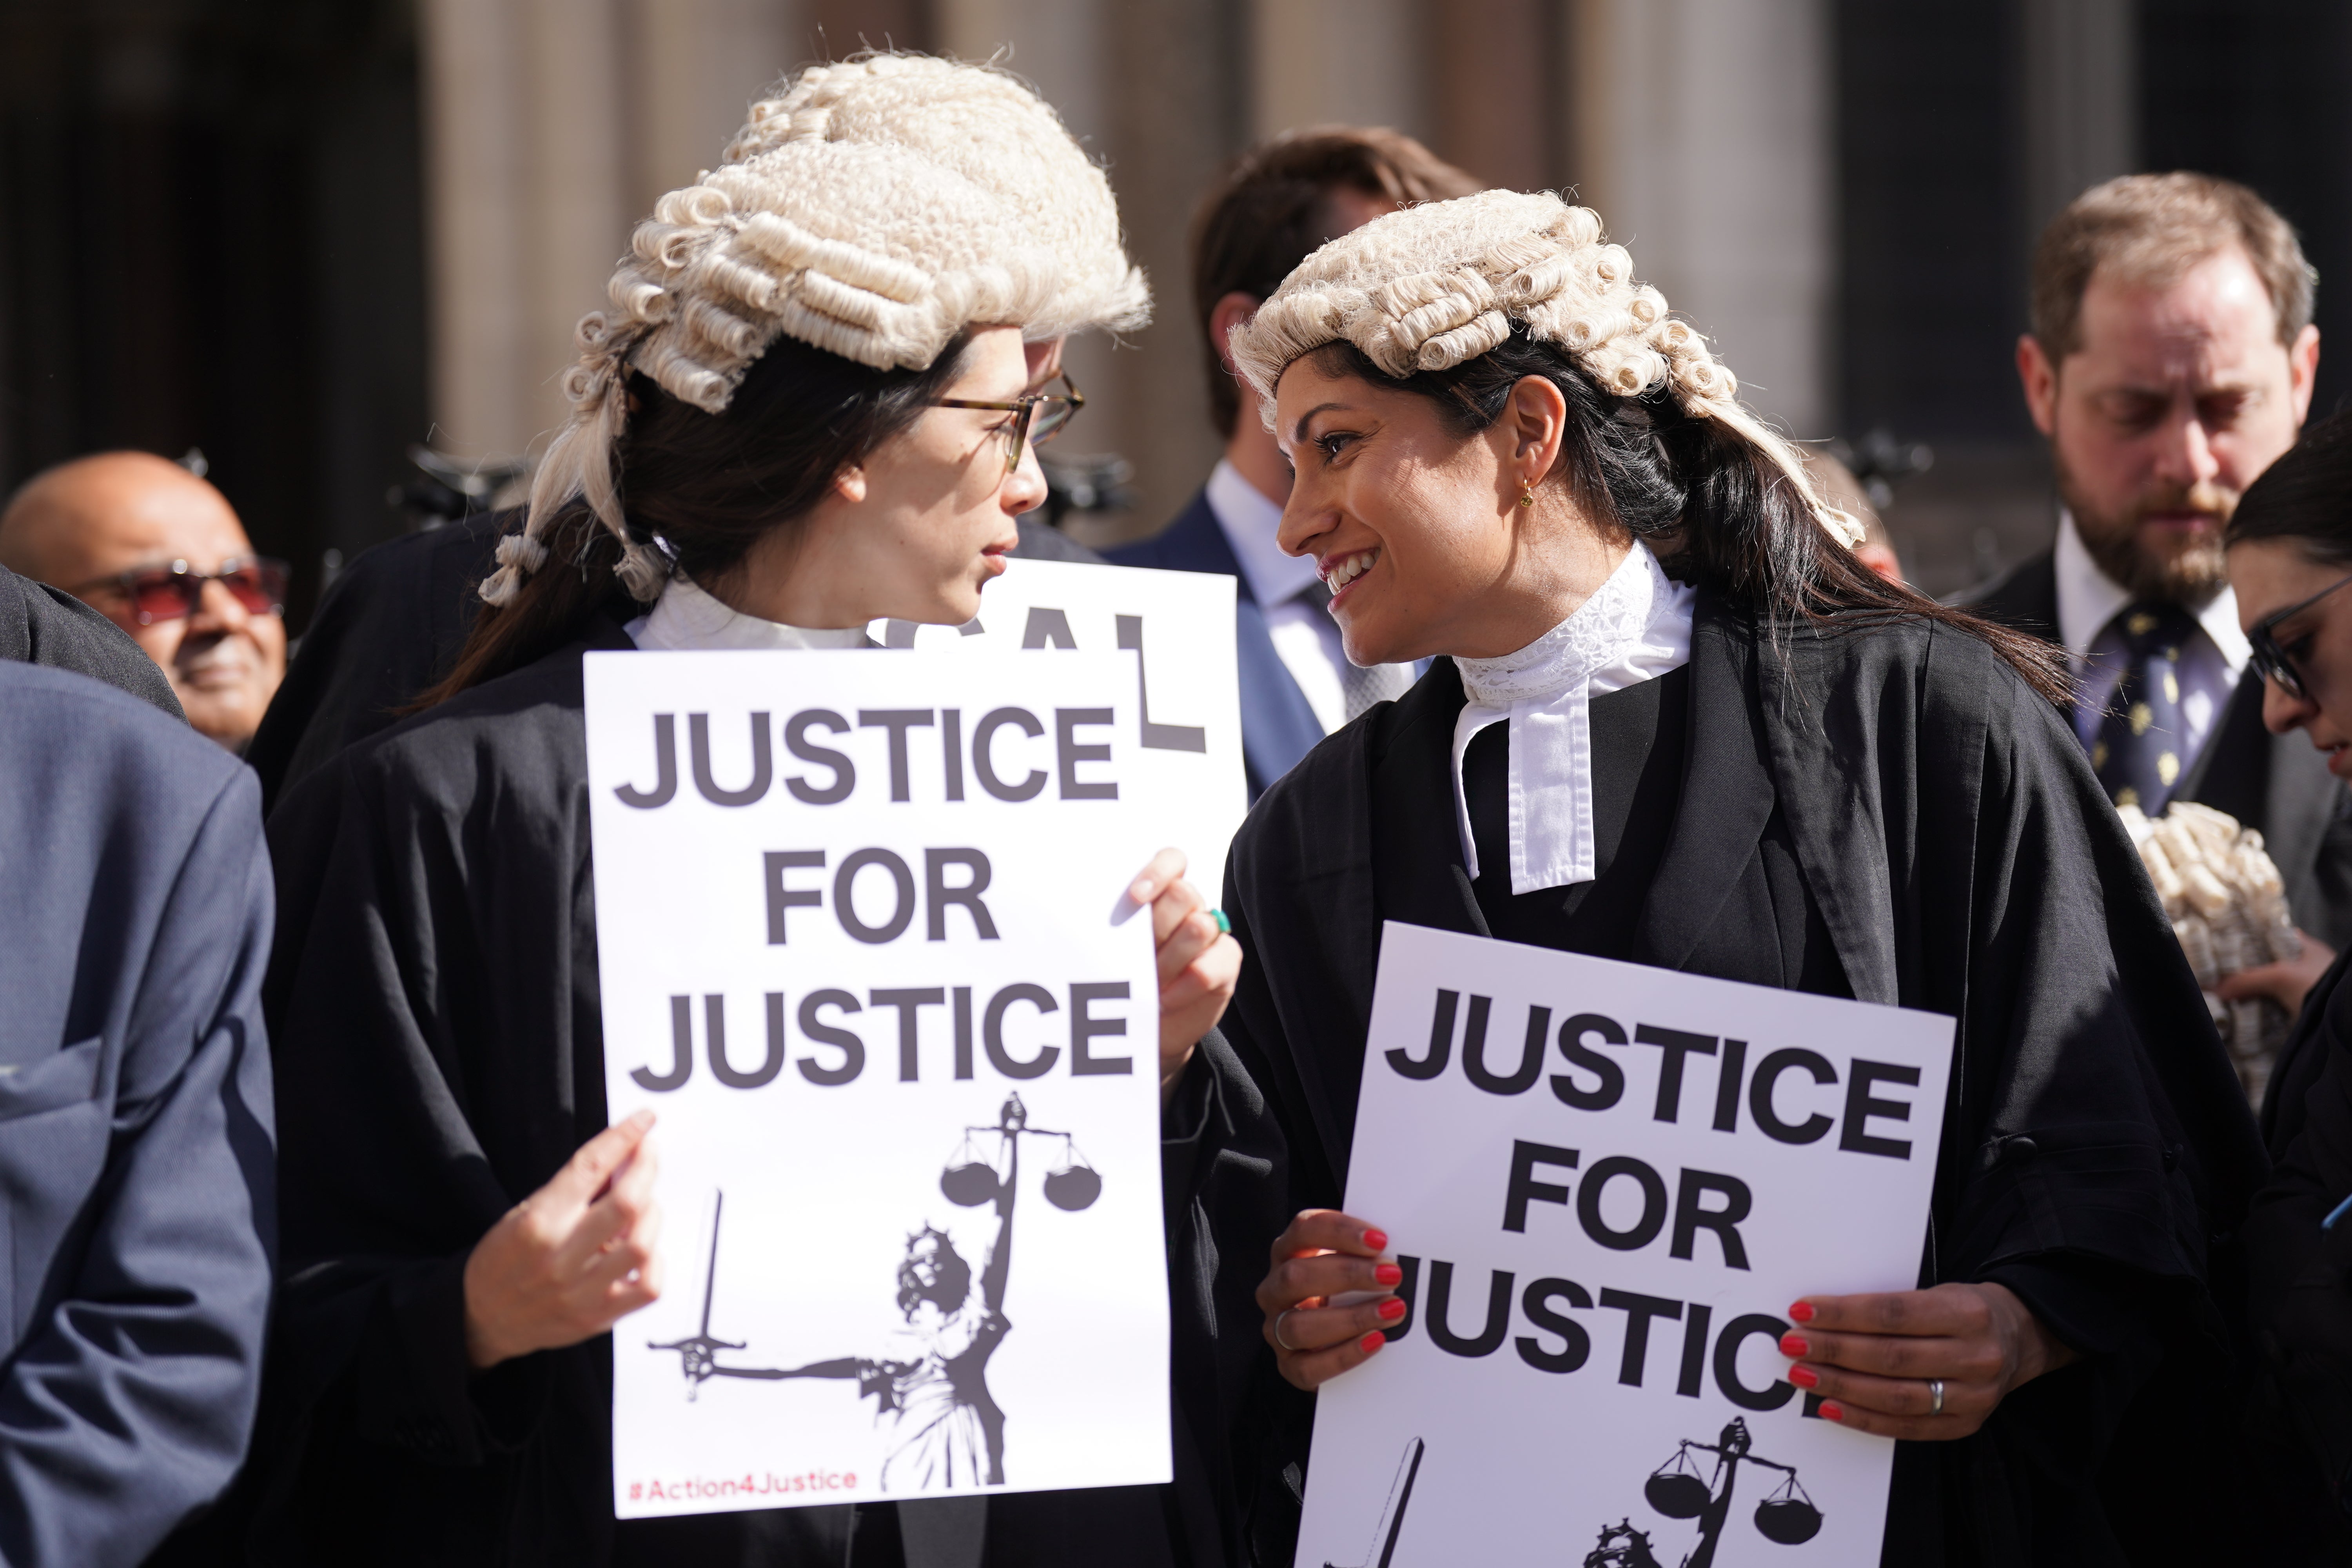
<svg viewBox="0 0 2352 1568">
<path fill-rule="evenodd" d="M 1058 339 L 1143 317 L 1110 188 L 1011 78 L 818 66 L 656 205 L 574 418 L 426 710 L 273 816 L 285 1302 L 268 1561 L 1169 1561 L 1160 1488 L 612 1519 L 604 1333 L 656 1295 L 647 1124 L 604 1128 L 581 658 L 964 623 L 1075 409 Z M 1138 879 L 1162 1079 L 1237 950 Z M 607 959 L 612 954 L 604 954 Z"/>
</svg>

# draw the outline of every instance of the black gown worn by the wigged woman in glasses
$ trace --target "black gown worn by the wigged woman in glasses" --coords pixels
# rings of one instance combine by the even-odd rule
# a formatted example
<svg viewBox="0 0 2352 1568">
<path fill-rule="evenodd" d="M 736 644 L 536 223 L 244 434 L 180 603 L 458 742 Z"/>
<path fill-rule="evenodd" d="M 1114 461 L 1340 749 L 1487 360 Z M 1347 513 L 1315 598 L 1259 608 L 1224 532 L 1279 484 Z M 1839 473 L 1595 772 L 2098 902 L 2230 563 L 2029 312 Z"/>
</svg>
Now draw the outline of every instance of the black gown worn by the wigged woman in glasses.
<svg viewBox="0 0 2352 1568">
<path fill-rule="evenodd" d="M 285 1286 L 247 1476 L 254 1559 L 1221 1561 L 1183 1413 L 1174 1488 L 616 1526 L 609 1335 L 468 1371 L 468 1253 L 607 1126 L 581 656 L 630 646 L 600 618 L 583 642 L 322 762 L 270 818 Z M 1218 1117 L 1218 1074 L 1188 1074 L 1169 1126 L 1195 1138 L 1164 1145 L 1171 1211 Z M 1178 1345 L 1178 1396 L 1197 1361 Z M 983 1514 L 978 1559 L 964 1547 Z"/>
</svg>

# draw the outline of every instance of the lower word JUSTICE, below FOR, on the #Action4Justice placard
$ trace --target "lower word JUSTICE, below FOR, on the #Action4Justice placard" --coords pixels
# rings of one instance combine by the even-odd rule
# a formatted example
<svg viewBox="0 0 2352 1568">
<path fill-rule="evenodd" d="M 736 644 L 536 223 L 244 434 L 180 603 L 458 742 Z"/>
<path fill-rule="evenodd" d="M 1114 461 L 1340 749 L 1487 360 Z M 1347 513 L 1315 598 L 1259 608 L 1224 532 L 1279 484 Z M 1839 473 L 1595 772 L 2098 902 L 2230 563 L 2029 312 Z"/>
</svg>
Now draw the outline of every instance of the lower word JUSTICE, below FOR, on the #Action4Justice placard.
<svg viewBox="0 0 2352 1568">
<path fill-rule="evenodd" d="M 703 1060 L 710 1077 L 724 1088 L 767 1088 L 790 1058 L 786 1018 L 800 1025 L 802 1039 L 818 1053 L 800 1056 L 793 1067 L 818 1088 L 856 1084 L 866 1072 L 866 1039 L 847 1025 L 847 1018 L 866 1009 L 891 1009 L 898 1013 L 898 1081 L 922 1081 L 922 1011 L 946 1009 L 950 1023 L 950 1060 L 957 1079 L 971 1079 L 985 1058 L 1000 1077 L 1028 1081 L 1042 1079 L 1058 1065 L 1068 1065 L 1068 1077 L 1124 1077 L 1136 1070 L 1131 1056 L 1103 1056 L 1094 1041 L 1124 1039 L 1127 1018 L 1110 1016 L 1103 1004 L 1129 1001 L 1127 980 L 1077 980 L 1068 987 L 1070 1039 L 1068 1046 L 1051 1041 L 1009 1039 L 1007 1023 L 1014 1009 L 1025 1006 L 1037 1018 L 1061 1011 L 1061 1001 L 1042 985 L 1016 980 L 997 987 L 985 1004 L 978 1004 L 969 985 L 913 985 L 866 992 L 858 1001 L 854 992 L 840 987 L 811 990 L 800 997 L 797 1009 L 786 1006 L 783 992 L 767 992 L 767 1048 L 760 1065 L 741 1067 L 727 1051 L 727 997 L 703 997 Z M 826 1013 L 833 1013 L 828 1018 Z M 978 1027 L 974 1030 L 974 1020 Z M 978 1048 L 974 1048 L 974 1044 Z M 684 1088 L 694 1077 L 694 997 L 670 997 L 670 1065 L 663 1072 L 630 1067 L 630 1081 L 652 1093 Z"/>
</svg>

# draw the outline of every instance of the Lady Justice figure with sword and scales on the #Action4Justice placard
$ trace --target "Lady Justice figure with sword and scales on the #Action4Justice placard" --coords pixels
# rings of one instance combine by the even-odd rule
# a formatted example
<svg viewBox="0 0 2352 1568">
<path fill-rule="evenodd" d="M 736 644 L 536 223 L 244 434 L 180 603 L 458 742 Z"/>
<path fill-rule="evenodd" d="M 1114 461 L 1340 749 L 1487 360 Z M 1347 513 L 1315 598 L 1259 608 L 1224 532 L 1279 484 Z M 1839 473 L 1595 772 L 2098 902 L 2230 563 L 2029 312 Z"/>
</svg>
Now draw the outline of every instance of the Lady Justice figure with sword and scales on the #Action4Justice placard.
<svg viewBox="0 0 2352 1568">
<path fill-rule="evenodd" d="M 974 1138 L 997 1138 L 997 1159 L 981 1159 Z M 1073 1133 L 1030 1126 L 1021 1095 L 1009 1095 L 995 1126 L 967 1126 L 962 1143 L 938 1178 L 941 1194 L 960 1208 L 995 1206 L 995 1227 L 978 1269 L 955 1248 L 955 1239 L 924 1225 L 906 1239 L 898 1262 L 896 1307 L 903 1326 L 896 1347 L 882 1356 L 833 1356 L 793 1368 L 729 1366 L 720 1352 L 750 1349 L 748 1340 L 710 1333 L 710 1305 L 720 1276 L 720 1215 L 727 1194 L 710 1206 L 710 1262 L 703 1274 L 699 1333 L 647 1349 L 677 1352 L 677 1371 L 691 1401 L 710 1378 L 783 1382 L 840 1378 L 858 1385 L 858 1396 L 877 1401 L 877 1418 L 891 1420 L 882 1490 L 1004 1483 L 1004 1410 L 988 1392 L 988 1359 L 1004 1342 L 1004 1288 L 1011 1274 L 1014 1201 L 1021 1192 L 1021 1140 L 1058 1138 L 1061 1164 L 1047 1171 L 1044 1199 L 1061 1211 L 1091 1208 L 1103 1194 L 1101 1173 L 1077 1152 Z"/>
</svg>

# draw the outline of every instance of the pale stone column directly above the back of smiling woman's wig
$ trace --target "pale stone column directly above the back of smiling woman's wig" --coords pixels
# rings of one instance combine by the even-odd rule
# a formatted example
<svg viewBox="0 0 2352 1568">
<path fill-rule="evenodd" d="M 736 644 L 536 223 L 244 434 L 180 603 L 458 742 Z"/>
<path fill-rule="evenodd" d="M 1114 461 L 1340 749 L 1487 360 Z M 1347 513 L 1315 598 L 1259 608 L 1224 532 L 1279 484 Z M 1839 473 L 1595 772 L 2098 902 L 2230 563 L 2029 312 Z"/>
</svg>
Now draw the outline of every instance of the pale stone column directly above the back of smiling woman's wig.
<svg viewBox="0 0 2352 1568">
<path fill-rule="evenodd" d="M 1576 183 L 1740 395 L 1832 435 L 1825 0 L 1576 0 Z"/>
</svg>

